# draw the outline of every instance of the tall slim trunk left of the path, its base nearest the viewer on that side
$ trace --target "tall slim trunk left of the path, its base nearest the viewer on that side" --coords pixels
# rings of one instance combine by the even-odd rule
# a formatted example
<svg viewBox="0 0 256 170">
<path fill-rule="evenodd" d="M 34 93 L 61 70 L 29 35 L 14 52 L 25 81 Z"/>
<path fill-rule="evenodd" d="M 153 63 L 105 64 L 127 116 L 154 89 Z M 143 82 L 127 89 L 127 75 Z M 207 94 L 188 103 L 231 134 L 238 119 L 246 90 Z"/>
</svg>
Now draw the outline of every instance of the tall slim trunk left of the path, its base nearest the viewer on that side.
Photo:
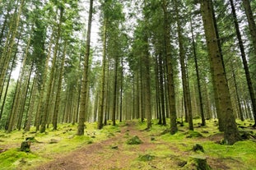
<svg viewBox="0 0 256 170">
<path fill-rule="evenodd" d="M 93 0 L 90 0 L 90 10 L 89 10 L 88 28 L 87 28 L 87 36 L 86 36 L 86 54 L 85 54 L 85 60 L 84 60 L 84 71 L 83 71 L 83 76 L 81 80 L 81 103 L 80 103 L 80 112 L 79 112 L 79 120 L 78 120 L 78 127 L 77 127 L 77 136 L 84 135 L 86 107 L 89 107 L 88 103 L 86 103 L 86 97 L 88 93 L 87 83 L 88 83 L 90 43 L 91 43 L 92 8 L 93 8 Z"/>
</svg>

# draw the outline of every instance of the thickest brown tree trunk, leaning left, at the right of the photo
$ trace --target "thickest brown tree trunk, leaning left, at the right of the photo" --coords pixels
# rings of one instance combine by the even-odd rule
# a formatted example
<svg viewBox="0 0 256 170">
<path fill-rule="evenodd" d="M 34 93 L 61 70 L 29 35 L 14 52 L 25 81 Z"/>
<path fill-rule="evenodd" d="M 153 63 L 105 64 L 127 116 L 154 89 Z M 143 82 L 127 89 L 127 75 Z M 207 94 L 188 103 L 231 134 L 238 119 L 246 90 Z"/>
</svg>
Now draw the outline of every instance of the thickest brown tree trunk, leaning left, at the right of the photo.
<svg viewBox="0 0 256 170">
<path fill-rule="evenodd" d="M 235 116 L 230 99 L 230 92 L 226 80 L 226 72 L 221 58 L 220 47 L 216 41 L 216 27 L 212 16 L 212 1 L 201 1 L 202 21 L 207 40 L 207 49 L 213 80 L 216 82 L 221 114 L 224 116 L 224 142 L 233 145 L 240 140 L 240 134 L 235 123 Z"/>
</svg>

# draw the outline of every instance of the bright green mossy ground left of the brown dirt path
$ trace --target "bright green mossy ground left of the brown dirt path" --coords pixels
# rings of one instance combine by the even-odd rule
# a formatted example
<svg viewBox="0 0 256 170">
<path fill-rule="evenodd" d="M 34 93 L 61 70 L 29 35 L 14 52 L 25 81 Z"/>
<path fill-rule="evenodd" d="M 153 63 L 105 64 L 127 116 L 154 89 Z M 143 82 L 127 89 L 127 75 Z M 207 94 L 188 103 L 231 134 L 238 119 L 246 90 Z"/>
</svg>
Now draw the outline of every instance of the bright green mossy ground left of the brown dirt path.
<svg viewBox="0 0 256 170">
<path fill-rule="evenodd" d="M 12 131 L 8 134 L 0 131 L 0 148 L 3 151 L 0 153 L 0 169 L 33 169 L 59 154 L 67 154 L 114 136 L 120 132 L 120 125 L 104 126 L 103 129 L 97 130 L 96 123 L 86 123 L 84 136 L 77 136 L 77 124 L 59 124 L 57 131 L 53 131 L 53 127 L 49 126 L 44 133 L 36 132 L 33 127 L 31 131 Z M 27 137 L 35 138 L 31 141 L 30 153 L 19 152 L 21 142 Z"/>
</svg>

